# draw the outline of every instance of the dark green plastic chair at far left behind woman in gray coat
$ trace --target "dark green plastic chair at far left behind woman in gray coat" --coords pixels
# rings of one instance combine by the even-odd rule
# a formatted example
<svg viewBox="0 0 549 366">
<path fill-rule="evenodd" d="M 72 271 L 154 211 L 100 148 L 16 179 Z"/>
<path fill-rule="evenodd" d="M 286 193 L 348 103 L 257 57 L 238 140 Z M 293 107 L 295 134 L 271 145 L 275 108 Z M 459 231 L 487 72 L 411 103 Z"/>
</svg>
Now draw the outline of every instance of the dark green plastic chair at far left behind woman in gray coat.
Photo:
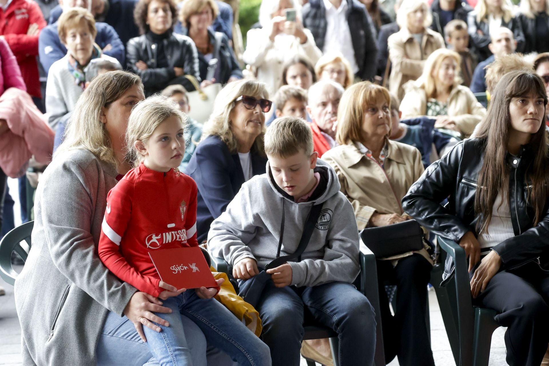
<svg viewBox="0 0 549 366">
<path fill-rule="evenodd" d="M 34 221 L 29 221 L 5 234 L 0 241 L 0 277 L 10 285 L 15 284 L 18 273 L 12 266 L 12 253 L 17 252 L 26 262 L 31 250 L 31 233 Z M 25 244 L 26 243 L 26 244 Z"/>
</svg>

